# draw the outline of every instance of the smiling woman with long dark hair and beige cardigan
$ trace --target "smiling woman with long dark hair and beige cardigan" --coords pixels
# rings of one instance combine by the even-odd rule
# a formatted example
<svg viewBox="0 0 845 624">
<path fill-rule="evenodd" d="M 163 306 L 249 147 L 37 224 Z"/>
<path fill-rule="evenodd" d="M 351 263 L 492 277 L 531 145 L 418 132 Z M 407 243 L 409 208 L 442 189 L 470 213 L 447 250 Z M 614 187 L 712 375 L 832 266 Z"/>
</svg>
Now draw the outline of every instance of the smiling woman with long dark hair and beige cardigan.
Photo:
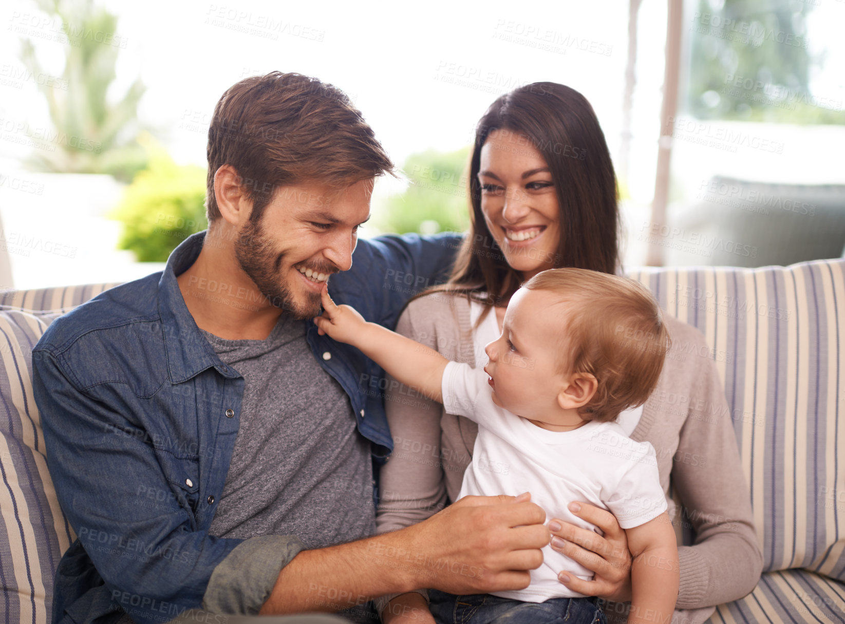
<svg viewBox="0 0 845 624">
<path fill-rule="evenodd" d="M 484 345 L 499 336 L 504 308 L 521 282 L 555 267 L 620 271 L 619 209 L 595 113 L 561 84 L 529 84 L 493 102 L 477 126 L 469 182 L 472 225 L 450 281 L 411 301 L 396 330 L 447 358 L 483 366 Z M 673 345 L 657 389 L 644 406 L 620 415 L 619 424 L 635 440 L 651 442 L 676 531 L 695 533 L 694 545 L 679 546 L 676 609 L 684 612 L 675 620 L 701 622 L 712 605 L 755 587 L 762 555 L 716 368 L 706 357 L 688 355 L 707 353 L 704 338 L 671 317 L 667 324 Z M 399 388 L 385 398 L 396 451 L 381 469 L 379 533 L 417 523 L 454 501 L 472 459 L 477 426 L 409 396 Z M 564 575 L 561 583 L 629 601 L 630 552 L 616 518 L 586 503 L 570 503 L 570 510 L 603 535 L 548 518 L 553 548 L 595 572 L 592 581 Z M 423 590 L 385 597 L 383 621 L 433 621 L 424 596 Z M 622 605 L 611 602 L 607 611 L 609 621 L 624 621 Z"/>
</svg>

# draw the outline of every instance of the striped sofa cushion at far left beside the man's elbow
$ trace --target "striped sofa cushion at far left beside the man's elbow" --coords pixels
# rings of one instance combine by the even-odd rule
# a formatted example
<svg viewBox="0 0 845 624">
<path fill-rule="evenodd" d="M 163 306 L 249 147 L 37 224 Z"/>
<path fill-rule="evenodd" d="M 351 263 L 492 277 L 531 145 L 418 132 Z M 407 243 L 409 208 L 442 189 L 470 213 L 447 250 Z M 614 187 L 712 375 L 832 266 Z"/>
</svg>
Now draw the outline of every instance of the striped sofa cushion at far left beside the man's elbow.
<svg viewBox="0 0 845 624">
<path fill-rule="evenodd" d="M 32 395 L 32 348 L 46 323 L 0 311 L 0 613 L 6 622 L 50 621 L 53 577 L 74 540 L 47 472 Z"/>
</svg>

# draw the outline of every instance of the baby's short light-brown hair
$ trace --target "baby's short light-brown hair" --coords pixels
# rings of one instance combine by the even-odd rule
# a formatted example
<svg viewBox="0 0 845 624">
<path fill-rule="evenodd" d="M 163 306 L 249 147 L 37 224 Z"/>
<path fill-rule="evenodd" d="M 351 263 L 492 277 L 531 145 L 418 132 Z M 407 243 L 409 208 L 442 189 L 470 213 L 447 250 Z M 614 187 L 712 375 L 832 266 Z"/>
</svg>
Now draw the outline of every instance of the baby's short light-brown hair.
<svg viewBox="0 0 845 624">
<path fill-rule="evenodd" d="M 561 297 L 569 312 L 557 341 L 561 372 L 589 372 L 598 388 L 579 413 L 615 421 L 646 402 L 670 345 L 657 301 L 633 279 L 586 269 L 548 269 L 523 287 Z"/>
</svg>

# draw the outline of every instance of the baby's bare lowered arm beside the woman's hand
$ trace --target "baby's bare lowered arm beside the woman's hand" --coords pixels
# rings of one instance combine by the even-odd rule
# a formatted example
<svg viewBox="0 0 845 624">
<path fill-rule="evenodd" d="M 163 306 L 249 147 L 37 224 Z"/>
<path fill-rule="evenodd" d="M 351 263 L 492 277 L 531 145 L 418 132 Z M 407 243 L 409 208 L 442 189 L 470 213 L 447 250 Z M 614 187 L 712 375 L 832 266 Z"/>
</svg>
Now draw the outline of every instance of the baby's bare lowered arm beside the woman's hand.
<svg viewBox="0 0 845 624">
<path fill-rule="evenodd" d="M 680 566 L 672 521 L 663 512 L 632 529 L 625 529 L 631 565 L 631 610 L 628 624 L 672 621 L 678 599 Z"/>
</svg>

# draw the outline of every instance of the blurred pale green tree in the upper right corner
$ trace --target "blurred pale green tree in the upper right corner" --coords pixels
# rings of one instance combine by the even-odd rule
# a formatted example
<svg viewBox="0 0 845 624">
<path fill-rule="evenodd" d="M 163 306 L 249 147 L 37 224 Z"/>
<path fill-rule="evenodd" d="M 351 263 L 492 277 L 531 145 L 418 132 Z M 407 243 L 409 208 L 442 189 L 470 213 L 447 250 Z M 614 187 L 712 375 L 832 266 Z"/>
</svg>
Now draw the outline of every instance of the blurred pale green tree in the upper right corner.
<svg viewBox="0 0 845 624">
<path fill-rule="evenodd" d="M 845 123 L 842 102 L 810 92 L 811 3 L 699 0 L 691 30 L 689 111 L 701 119 Z"/>
</svg>

